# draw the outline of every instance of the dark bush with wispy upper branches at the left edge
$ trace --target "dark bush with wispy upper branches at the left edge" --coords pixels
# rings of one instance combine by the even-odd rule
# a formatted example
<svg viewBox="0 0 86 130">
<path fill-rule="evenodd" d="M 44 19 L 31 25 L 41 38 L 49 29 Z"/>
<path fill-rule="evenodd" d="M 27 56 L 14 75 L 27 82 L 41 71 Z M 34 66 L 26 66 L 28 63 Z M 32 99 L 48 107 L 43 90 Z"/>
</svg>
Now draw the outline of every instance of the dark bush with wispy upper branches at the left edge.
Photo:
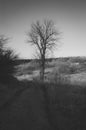
<svg viewBox="0 0 86 130">
<path fill-rule="evenodd" d="M 7 40 L 8 38 L 0 37 L 0 81 L 4 83 L 12 79 L 16 71 L 15 60 L 18 58 L 13 50 L 4 47 Z"/>
</svg>

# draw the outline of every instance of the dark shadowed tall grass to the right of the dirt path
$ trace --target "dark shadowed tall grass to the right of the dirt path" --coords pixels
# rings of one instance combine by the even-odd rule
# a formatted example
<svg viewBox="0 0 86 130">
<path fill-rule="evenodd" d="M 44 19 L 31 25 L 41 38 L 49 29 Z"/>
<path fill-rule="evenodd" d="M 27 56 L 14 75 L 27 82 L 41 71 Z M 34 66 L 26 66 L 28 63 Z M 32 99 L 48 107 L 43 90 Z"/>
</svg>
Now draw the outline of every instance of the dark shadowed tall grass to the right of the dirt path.
<svg viewBox="0 0 86 130">
<path fill-rule="evenodd" d="M 59 130 L 86 129 L 86 88 L 46 84 L 49 118 Z"/>
</svg>

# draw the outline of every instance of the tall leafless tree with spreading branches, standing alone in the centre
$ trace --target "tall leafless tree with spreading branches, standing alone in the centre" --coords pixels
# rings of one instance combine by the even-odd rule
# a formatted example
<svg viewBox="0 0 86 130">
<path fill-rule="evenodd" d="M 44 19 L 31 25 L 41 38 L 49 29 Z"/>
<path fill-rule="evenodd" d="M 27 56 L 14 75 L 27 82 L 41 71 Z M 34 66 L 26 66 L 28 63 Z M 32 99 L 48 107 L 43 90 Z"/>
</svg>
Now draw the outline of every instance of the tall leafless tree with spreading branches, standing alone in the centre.
<svg viewBox="0 0 86 130">
<path fill-rule="evenodd" d="M 49 51 L 53 51 L 59 40 L 60 32 L 55 29 L 52 20 L 44 20 L 43 23 L 37 21 L 31 26 L 28 33 L 28 43 L 35 45 L 40 59 L 40 79 L 44 81 L 45 61 Z M 29 39 L 29 38 L 28 38 Z"/>
</svg>

